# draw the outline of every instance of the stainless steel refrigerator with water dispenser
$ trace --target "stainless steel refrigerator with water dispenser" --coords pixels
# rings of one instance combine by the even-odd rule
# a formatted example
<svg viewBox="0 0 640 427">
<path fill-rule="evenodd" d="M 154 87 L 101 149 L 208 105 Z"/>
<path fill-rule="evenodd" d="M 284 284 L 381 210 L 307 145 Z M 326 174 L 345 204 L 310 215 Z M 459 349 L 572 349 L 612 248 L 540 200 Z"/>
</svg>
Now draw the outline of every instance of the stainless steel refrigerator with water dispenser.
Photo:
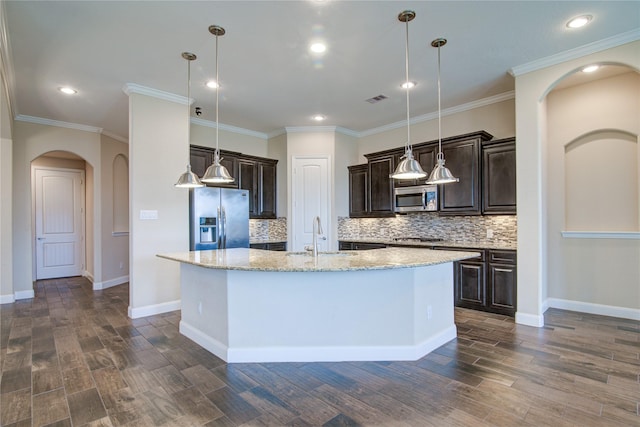
<svg viewBox="0 0 640 427">
<path fill-rule="evenodd" d="M 249 247 L 249 191 L 201 187 L 189 192 L 192 251 Z"/>
</svg>

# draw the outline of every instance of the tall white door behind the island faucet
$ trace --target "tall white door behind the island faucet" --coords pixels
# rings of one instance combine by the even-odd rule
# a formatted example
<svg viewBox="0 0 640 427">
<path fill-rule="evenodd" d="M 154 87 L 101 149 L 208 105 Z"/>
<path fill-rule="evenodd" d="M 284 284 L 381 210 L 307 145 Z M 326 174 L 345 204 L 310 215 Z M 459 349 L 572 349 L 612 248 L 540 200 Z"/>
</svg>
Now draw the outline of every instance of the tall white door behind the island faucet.
<svg viewBox="0 0 640 427">
<path fill-rule="evenodd" d="M 326 251 L 330 247 L 331 226 L 329 212 L 330 174 L 327 157 L 294 157 L 293 167 L 293 251 L 303 251 L 313 242 L 313 219 L 320 217 L 323 236 L 318 240 L 318 249 Z"/>
</svg>

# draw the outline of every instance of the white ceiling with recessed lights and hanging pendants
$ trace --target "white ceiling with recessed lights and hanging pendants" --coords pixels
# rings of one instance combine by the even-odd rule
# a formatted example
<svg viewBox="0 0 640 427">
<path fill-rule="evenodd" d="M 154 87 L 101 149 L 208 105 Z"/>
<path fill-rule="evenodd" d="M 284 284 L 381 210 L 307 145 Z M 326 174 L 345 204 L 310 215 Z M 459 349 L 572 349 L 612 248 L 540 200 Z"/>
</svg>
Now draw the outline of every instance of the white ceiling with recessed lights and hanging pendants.
<svg viewBox="0 0 640 427">
<path fill-rule="evenodd" d="M 411 116 L 437 109 L 437 50 L 442 48 L 442 107 L 514 90 L 513 67 L 638 39 L 638 1 L 7 1 L 9 48 L 3 55 L 13 113 L 101 128 L 128 136 L 127 83 L 191 97 L 213 121 L 215 38 L 219 39 L 220 123 L 265 135 L 321 125 L 366 133 L 406 118 L 405 9 L 409 24 Z M 566 21 L 593 15 L 585 28 Z M 316 56 L 309 45 L 323 40 Z M 69 85 L 74 96 L 57 91 Z M 370 104 L 377 95 L 387 100 Z M 193 112 L 193 110 L 192 110 Z"/>
</svg>

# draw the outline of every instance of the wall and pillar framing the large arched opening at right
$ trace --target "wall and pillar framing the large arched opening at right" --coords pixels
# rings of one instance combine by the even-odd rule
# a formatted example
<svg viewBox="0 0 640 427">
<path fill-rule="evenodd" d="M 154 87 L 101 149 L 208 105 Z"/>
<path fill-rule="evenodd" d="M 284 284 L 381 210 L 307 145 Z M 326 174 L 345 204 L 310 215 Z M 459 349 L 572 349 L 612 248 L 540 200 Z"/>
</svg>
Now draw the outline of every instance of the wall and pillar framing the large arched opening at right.
<svg viewBox="0 0 640 427">
<path fill-rule="evenodd" d="M 567 60 L 516 77 L 516 161 L 518 189 L 518 313 L 519 323 L 542 326 L 548 304 L 547 293 L 555 292 L 549 280 L 555 277 L 548 265 L 547 220 L 555 220 L 553 200 L 547 191 L 546 153 L 550 131 L 546 95 L 564 76 L 591 63 L 614 63 L 640 69 L 640 42 L 628 43 L 581 58 Z M 636 95 L 637 97 L 637 95 Z M 618 108 L 612 114 L 618 114 Z M 637 115 L 635 121 L 637 123 Z M 564 127 L 563 127 L 564 128 Z M 566 129 L 571 129 L 567 126 Z M 636 133 L 637 134 L 637 133 Z M 549 166 L 550 167 L 550 166 Z M 605 255 L 605 254 L 603 254 Z M 602 258 L 602 263 L 608 259 Z M 637 265 L 637 264 L 636 264 Z M 551 266 L 553 267 L 553 266 Z M 549 272 L 549 273 L 547 273 Z M 606 287 L 609 283 L 600 283 Z M 637 284 L 636 284 L 637 285 Z M 599 288 L 601 289 L 601 288 Z M 637 302 L 637 299 L 636 299 Z M 606 304 L 606 303 L 605 303 Z M 589 309 L 593 306 L 583 305 Z"/>
</svg>

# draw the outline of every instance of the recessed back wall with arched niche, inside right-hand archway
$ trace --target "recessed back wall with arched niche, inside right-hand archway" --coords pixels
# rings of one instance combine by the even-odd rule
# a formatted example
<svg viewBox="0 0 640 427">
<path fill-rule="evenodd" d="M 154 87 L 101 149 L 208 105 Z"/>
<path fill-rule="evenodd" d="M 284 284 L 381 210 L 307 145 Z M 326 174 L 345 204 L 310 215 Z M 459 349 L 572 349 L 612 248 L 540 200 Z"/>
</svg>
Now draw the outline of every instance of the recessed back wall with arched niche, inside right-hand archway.
<svg viewBox="0 0 640 427">
<path fill-rule="evenodd" d="M 621 317 L 640 310 L 640 240 L 561 235 L 640 231 L 639 117 L 635 72 L 547 96 L 544 197 L 551 306 Z"/>
</svg>

